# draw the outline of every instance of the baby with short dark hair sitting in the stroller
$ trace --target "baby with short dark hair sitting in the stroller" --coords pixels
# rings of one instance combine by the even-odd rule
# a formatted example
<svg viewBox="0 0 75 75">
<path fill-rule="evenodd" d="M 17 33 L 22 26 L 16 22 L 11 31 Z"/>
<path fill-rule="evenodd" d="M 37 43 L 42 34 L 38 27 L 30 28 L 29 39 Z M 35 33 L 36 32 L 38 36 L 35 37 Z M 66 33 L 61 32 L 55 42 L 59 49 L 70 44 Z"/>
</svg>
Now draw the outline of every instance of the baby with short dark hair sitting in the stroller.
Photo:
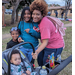
<svg viewBox="0 0 75 75">
<path fill-rule="evenodd" d="M 11 53 L 11 75 L 30 75 L 31 68 L 24 72 L 22 68 L 21 55 L 18 50 L 13 50 Z M 27 65 L 25 65 L 27 67 Z M 28 65 L 29 66 L 29 65 Z"/>
</svg>

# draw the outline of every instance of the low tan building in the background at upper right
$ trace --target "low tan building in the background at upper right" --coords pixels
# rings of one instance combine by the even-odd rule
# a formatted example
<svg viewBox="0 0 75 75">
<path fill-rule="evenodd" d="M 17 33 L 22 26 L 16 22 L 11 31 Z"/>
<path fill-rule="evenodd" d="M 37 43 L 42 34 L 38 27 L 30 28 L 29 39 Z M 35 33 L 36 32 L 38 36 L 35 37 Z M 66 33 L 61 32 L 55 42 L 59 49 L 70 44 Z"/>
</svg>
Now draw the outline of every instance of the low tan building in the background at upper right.
<svg viewBox="0 0 75 75">
<path fill-rule="evenodd" d="M 51 12 L 51 16 L 55 16 L 55 11 L 58 12 L 58 16 L 61 16 L 62 11 L 65 12 L 65 6 L 51 6 L 48 7 L 48 10 Z M 65 15 L 65 13 L 64 13 Z M 72 6 L 70 6 L 67 16 L 72 16 Z"/>
</svg>

